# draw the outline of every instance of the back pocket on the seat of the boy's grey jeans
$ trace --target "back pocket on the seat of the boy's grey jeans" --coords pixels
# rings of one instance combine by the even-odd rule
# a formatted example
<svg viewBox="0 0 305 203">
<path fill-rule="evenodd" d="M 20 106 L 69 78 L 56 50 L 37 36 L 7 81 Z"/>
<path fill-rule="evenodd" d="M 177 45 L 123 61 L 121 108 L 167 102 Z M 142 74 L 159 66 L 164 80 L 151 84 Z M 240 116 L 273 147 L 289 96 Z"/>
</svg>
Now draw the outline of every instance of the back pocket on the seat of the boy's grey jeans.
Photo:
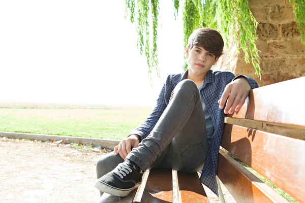
<svg viewBox="0 0 305 203">
<path fill-rule="evenodd" d="M 206 152 L 202 142 L 190 145 L 180 153 L 182 167 L 185 172 L 197 172 L 202 169 Z"/>
</svg>

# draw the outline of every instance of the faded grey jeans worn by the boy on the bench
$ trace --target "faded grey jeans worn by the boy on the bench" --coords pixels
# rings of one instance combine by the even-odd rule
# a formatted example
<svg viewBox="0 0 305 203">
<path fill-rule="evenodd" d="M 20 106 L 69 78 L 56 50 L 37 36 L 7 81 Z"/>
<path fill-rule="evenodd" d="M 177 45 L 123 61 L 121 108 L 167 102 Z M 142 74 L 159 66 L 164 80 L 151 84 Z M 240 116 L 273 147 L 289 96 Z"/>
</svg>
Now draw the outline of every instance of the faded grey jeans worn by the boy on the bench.
<svg viewBox="0 0 305 203">
<path fill-rule="evenodd" d="M 127 159 L 147 168 L 172 168 L 197 172 L 208 152 L 204 113 L 196 84 L 182 80 L 171 93 L 169 104 L 150 134 Z M 114 152 L 97 162 L 97 178 L 112 171 L 124 160 Z"/>
</svg>

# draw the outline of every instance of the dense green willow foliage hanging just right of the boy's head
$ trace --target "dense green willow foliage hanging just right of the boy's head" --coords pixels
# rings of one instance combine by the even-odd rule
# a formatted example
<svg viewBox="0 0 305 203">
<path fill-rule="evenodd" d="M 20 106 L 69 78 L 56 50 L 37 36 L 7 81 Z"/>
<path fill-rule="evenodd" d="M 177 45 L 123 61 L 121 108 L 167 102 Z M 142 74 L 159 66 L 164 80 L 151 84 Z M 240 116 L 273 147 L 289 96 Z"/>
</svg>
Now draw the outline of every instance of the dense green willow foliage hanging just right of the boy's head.
<svg viewBox="0 0 305 203">
<path fill-rule="evenodd" d="M 214 3 L 216 2 L 214 1 Z M 214 5 L 209 4 L 207 6 L 213 7 Z M 250 11 L 249 2 L 247 0 L 231 2 L 221 0 L 217 1 L 215 7 L 217 26 L 214 28 L 220 31 L 228 48 L 229 36 L 233 37 L 237 50 L 241 49 L 245 53 L 245 61 L 247 63 L 249 63 L 250 54 L 252 65 L 254 66 L 256 74 L 260 77 L 259 55 L 255 43 L 258 39 L 256 33 L 258 23 Z M 215 24 L 208 24 L 208 26 L 213 27 Z"/>
</svg>

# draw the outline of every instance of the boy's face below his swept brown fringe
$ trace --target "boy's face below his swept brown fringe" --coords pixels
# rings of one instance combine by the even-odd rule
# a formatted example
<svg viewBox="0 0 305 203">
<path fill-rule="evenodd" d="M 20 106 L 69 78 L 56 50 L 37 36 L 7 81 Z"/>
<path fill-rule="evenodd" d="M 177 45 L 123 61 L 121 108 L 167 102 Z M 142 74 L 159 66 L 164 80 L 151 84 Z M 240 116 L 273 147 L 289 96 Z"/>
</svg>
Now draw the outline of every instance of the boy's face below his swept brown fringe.
<svg viewBox="0 0 305 203">
<path fill-rule="evenodd" d="M 190 74 L 194 75 L 205 75 L 219 59 L 199 46 L 193 46 L 192 49 L 187 48 L 186 54 L 189 58 L 189 71 L 192 72 Z"/>
</svg>

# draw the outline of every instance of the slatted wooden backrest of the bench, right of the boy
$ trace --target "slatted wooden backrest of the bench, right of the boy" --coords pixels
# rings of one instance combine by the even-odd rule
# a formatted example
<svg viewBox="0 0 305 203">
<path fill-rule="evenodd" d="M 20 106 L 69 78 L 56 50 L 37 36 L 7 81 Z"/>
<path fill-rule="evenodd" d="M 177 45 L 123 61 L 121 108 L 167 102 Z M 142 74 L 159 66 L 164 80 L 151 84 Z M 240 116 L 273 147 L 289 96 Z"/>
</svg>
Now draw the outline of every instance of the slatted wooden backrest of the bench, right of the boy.
<svg viewBox="0 0 305 203">
<path fill-rule="evenodd" d="M 305 77 L 250 92 L 225 118 L 218 177 L 237 202 L 287 202 L 235 159 L 305 202 Z"/>
</svg>

